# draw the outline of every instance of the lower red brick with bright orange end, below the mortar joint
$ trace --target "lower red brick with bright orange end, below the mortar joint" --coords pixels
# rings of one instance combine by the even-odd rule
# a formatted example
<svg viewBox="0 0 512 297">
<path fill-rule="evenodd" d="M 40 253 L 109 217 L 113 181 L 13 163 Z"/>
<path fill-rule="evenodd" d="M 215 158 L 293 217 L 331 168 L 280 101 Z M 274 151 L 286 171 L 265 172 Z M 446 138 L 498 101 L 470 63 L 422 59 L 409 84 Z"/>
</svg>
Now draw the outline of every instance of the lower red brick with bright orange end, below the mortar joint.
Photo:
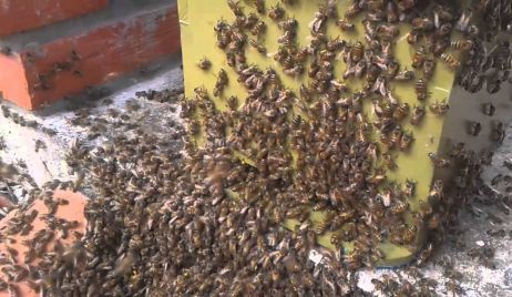
<svg viewBox="0 0 512 297">
<path fill-rule="evenodd" d="M 177 8 L 173 6 L 42 44 L 37 53 L 0 57 L 0 92 L 18 105 L 35 110 L 176 53 L 180 44 Z M 79 60 L 73 61 L 73 51 Z M 53 71 L 57 63 L 71 63 L 70 70 Z"/>
</svg>

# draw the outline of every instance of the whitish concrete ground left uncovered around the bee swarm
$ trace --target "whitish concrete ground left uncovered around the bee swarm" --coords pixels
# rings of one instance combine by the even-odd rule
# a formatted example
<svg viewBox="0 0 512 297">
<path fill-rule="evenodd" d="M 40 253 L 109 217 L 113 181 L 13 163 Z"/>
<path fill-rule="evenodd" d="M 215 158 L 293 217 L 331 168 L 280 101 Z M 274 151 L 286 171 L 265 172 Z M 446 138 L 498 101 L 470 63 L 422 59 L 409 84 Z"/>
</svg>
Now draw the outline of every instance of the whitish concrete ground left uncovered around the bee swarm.
<svg viewBox="0 0 512 297">
<path fill-rule="evenodd" d="M 135 73 L 122 82 L 91 90 L 81 100 L 63 102 L 42 113 L 25 113 L 3 102 L 11 117 L 0 115 L 0 137 L 3 140 L 0 157 L 4 164 L 16 164 L 20 172 L 32 176 L 39 186 L 55 178 L 73 181 L 76 175 L 65 165 L 66 152 L 75 141 L 86 145 L 100 145 L 109 140 L 110 132 L 119 121 L 115 116 L 109 116 L 113 110 L 123 111 L 139 106 L 135 116 L 139 116 L 141 127 L 152 130 L 162 137 L 170 130 L 180 130 L 182 122 L 177 104 L 136 99 L 135 93 L 149 89 L 181 86 L 178 62 L 170 61 L 155 69 L 147 69 L 144 75 Z M 117 91 L 109 91 L 113 89 Z M 504 92 L 510 92 L 510 89 Z M 22 121 L 14 123 L 13 113 L 24 117 L 24 126 L 19 124 Z M 103 125 L 91 124 L 94 121 L 89 123 L 89 120 L 96 117 L 106 119 L 106 122 Z M 27 122 L 30 121 L 35 121 L 37 127 L 28 126 Z M 91 130 L 99 132 L 98 137 L 90 139 Z M 460 296 L 512 296 L 512 219 L 506 214 L 506 207 L 496 207 L 493 203 L 495 199 L 506 198 L 508 192 L 512 191 L 511 171 L 503 165 L 505 161 L 511 161 L 512 164 L 512 126 L 509 126 L 508 132 L 503 145 L 495 152 L 492 166 L 487 167 L 482 174 L 493 194 L 470 197 L 474 203 L 462 209 L 460 224 L 448 231 L 447 240 L 434 253 L 433 259 L 420 268 L 422 274 L 438 281 L 437 293 L 441 296 L 452 296 L 447 290 L 446 283 L 453 278 L 459 279 L 457 284 L 461 288 Z M 495 177 L 498 174 L 501 176 Z M 30 187 L 31 183 L 16 185 L 16 181 L 10 182 L 11 188 L 18 191 L 18 198 L 22 199 L 23 188 Z M 480 255 L 482 250 L 489 257 Z M 372 291 L 372 278 L 389 275 L 407 279 L 405 273 L 403 268 L 363 270 L 359 273 L 359 287 Z"/>
</svg>

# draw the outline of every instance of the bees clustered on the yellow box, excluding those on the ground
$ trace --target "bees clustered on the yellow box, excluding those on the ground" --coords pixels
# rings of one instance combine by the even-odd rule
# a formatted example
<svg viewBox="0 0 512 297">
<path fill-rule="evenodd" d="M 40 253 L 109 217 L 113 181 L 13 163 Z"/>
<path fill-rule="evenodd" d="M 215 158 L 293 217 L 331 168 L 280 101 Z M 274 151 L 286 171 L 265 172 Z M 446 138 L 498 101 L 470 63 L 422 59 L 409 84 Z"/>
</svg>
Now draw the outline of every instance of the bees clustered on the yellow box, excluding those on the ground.
<svg viewBox="0 0 512 297">
<path fill-rule="evenodd" d="M 397 168 L 393 152 L 413 150 L 414 135 L 405 129 L 406 123 L 416 127 L 427 113 L 448 112 L 446 100 L 429 99 L 429 82 L 439 63 L 458 71 L 462 57 L 477 49 L 480 31 L 471 21 L 483 3 L 475 1 L 460 11 L 448 2 L 360 0 L 351 1 L 340 13 L 338 1 L 320 1 L 304 47 L 297 40 L 304 24 L 287 13 L 297 1 L 273 7 L 265 1 L 245 4 L 229 0 L 227 4 L 234 21 L 219 19 L 213 30 L 216 47 L 225 52 L 227 65 L 237 76 L 229 78 L 221 69 L 214 90 L 198 86 L 182 104 L 193 140 L 202 137 L 206 150 L 222 148 L 242 163 L 250 163 L 245 183 L 234 182 L 233 175 L 247 168 L 229 167 L 227 173 L 221 165 L 212 168 L 223 188 L 246 203 L 265 205 L 274 223 L 295 219 L 297 229 L 313 229 L 316 236 L 331 234 L 330 244 L 337 248 L 352 243 L 352 252 L 344 258 L 351 268 L 386 259 L 379 248 L 382 242 L 416 250 L 423 226 L 442 229 L 450 219 L 449 205 L 454 203 L 447 198 L 443 182 L 432 183 L 418 209 L 410 203 L 417 183 L 398 184 L 388 180 L 387 172 Z M 328 22 L 350 32 L 361 16 L 363 40 L 327 35 Z M 410 28 L 406 39 L 414 49 L 410 64 L 400 64 L 393 51 L 403 24 Z M 272 54 L 265 48 L 268 42 L 258 41 L 270 25 L 281 32 Z M 284 75 L 303 80 L 299 91 L 287 88 L 276 69 L 250 64 L 246 57 L 250 48 L 273 59 Z M 197 66 L 208 72 L 213 63 L 205 57 Z M 341 78 L 335 74 L 339 64 L 346 65 Z M 351 79 L 362 81 L 362 88 L 354 90 L 355 84 L 348 83 Z M 397 82 L 414 85 L 417 104 L 411 106 L 393 95 Z M 235 83 L 244 86 L 245 99 L 224 95 L 226 86 Z M 365 102 L 371 102 L 375 120 L 365 112 Z M 219 104 L 227 109 L 217 109 Z M 485 110 L 493 109 L 491 104 Z M 478 134 L 478 129 L 468 133 Z M 498 132 L 500 141 L 503 126 Z M 186 144 L 195 145 L 194 141 Z M 471 171 L 462 166 L 457 176 L 462 187 L 473 171 L 489 161 L 487 153 L 478 155 L 462 143 L 454 144 L 447 156 L 428 156 L 434 168 L 470 166 Z M 311 209 L 325 218 L 313 224 Z"/>
</svg>

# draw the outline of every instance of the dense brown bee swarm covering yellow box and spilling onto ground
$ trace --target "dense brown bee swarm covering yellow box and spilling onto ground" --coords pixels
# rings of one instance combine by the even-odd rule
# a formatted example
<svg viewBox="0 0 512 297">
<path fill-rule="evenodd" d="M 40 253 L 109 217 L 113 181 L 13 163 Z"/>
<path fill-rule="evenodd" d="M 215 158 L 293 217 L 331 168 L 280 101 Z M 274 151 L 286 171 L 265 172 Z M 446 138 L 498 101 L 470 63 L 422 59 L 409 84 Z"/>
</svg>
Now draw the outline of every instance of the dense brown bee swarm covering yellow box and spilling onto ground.
<svg viewBox="0 0 512 297">
<path fill-rule="evenodd" d="M 463 144 L 448 156 L 430 153 L 436 168 L 460 166 L 454 186 L 434 181 L 419 209 L 410 203 L 416 182 L 388 181 L 387 172 L 397 168 L 397 155 L 414 145 L 406 124 L 418 126 L 427 113 L 449 110 L 446 101 L 430 101 L 428 83 L 438 62 L 461 66 L 453 51 L 480 47 L 468 14 L 459 16 L 449 4 L 418 13 L 421 1 L 410 0 L 356 0 L 339 14 L 337 1 L 328 0 L 309 23 L 308 44 L 299 47 L 297 30 L 305 24 L 286 10 L 297 2 L 269 7 L 228 0 L 235 20 L 219 20 L 214 33 L 231 69 L 216 73 L 214 90 L 197 86 L 193 98 L 180 101 L 188 134 L 170 135 L 183 144 L 180 153 L 168 139 L 133 123 L 132 135 L 120 133 L 101 147 L 72 147 L 70 165 L 86 171 L 99 197 L 88 203 L 86 233 L 70 252 L 81 262 L 57 253 L 53 264 L 43 266 L 41 289 L 53 296 L 342 296 L 357 293 L 350 270 L 386 259 L 381 243 L 416 250 L 424 226 L 443 234 L 482 157 Z M 359 17 L 365 40 L 327 37 L 328 22 L 349 31 Z M 393 54 L 399 23 L 411 28 L 410 65 Z M 247 62 L 248 50 L 267 53 L 260 38 L 270 25 L 281 32 L 272 59 L 285 75 L 308 78 L 298 94 L 275 69 Z M 450 40 L 453 30 L 460 40 Z M 346 65 L 342 78 L 335 74 L 338 59 Z M 213 62 L 204 57 L 197 66 L 209 71 Z M 236 78 L 228 75 L 233 71 Z M 351 90 L 349 80 L 363 81 L 363 86 Z M 393 95 L 397 82 L 416 86 L 414 105 Z M 245 88 L 246 98 L 226 94 L 235 83 Z M 166 98 L 155 91 L 139 95 Z M 372 120 L 363 112 L 365 101 L 372 104 Z M 217 102 L 227 109 L 217 109 Z M 488 105 L 482 110 L 493 113 Z M 502 140 L 503 126 L 496 123 L 494 131 Z M 313 222 L 311 209 L 324 219 Z M 297 223 L 293 233 L 281 227 L 287 219 Z M 317 245 L 327 233 L 334 234 L 337 250 Z M 345 242 L 355 246 L 346 254 Z M 319 250 L 321 264 L 309 259 L 311 249 Z M 418 264 L 431 252 L 428 245 Z M 428 284 L 373 283 L 398 296 L 431 293 Z"/>
</svg>

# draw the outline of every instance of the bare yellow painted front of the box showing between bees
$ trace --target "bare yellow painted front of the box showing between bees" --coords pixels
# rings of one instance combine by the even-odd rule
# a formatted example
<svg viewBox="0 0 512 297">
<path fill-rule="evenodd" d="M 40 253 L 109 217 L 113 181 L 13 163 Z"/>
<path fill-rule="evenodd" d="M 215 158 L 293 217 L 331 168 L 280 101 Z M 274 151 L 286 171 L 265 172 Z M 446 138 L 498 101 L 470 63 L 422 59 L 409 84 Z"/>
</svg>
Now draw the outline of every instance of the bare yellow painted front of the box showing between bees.
<svg viewBox="0 0 512 297">
<path fill-rule="evenodd" d="M 267 0 L 265 1 L 266 8 L 270 8 L 276 4 L 278 0 Z M 309 22 L 313 20 L 314 14 L 318 11 L 319 3 L 325 1 L 297 1 L 294 6 L 286 7 L 287 13 L 289 17 L 293 17 L 299 21 L 298 27 L 298 43 L 299 45 L 306 45 L 310 40 L 310 32 L 308 29 Z M 346 11 L 347 6 L 350 1 L 339 1 L 338 11 L 340 16 Z M 252 7 L 250 1 L 240 1 L 244 7 L 246 14 L 255 11 Z M 231 81 L 227 89 L 224 91 L 224 98 L 231 95 L 236 95 L 240 99 L 246 96 L 246 91 L 242 84 L 238 84 L 234 78 L 236 73 L 233 69 L 227 65 L 225 53 L 216 47 L 216 37 L 214 33 L 214 27 L 219 19 L 224 19 L 228 22 L 233 22 L 234 14 L 229 10 L 226 0 L 180 0 L 180 23 L 182 30 L 182 47 L 183 47 L 183 65 L 184 65 L 184 79 L 185 79 L 185 94 L 187 96 L 194 95 L 194 89 L 197 86 L 205 86 L 207 90 L 212 91 L 215 86 L 216 74 L 221 69 L 227 71 Z M 290 78 L 285 75 L 281 72 L 281 68 L 274 61 L 273 53 L 277 51 L 278 44 L 276 42 L 277 38 L 283 34 L 283 32 L 277 27 L 277 23 L 269 19 L 267 16 L 258 14 L 266 24 L 267 30 L 262 39 L 265 47 L 267 48 L 267 55 L 259 54 L 255 49 L 247 47 L 246 55 L 248 64 L 257 64 L 259 69 L 266 69 L 272 66 L 275 69 L 283 81 L 283 83 L 290 88 L 296 93 L 299 93 L 299 86 L 303 82 L 307 83 L 307 75 L 300 78 Z M 361 24 L 361 19 L 356 19 L 354 22 L 357 24 L 356 31 L 354 33 L 344 33 L 335 25 L 332 21 L 328 23 L 328 35 L 335 38 L 340 37 L 341 39 L 348 40 L 352 43 L 356 41 L 363 42 L 363 29 Z M 408 44 L 407 33 L 409 28 L 402 25 L 400 28 L 400 35 L 397 38 L 397 43 L 395 44 L 396 57 L 399 63 L 402 65 L 401 70 L 407 66 L 409 70 L 412 70 L 410 66 L 411 58 L 414 53 L 414 48 Z M 212 61 L 213 66 L 209 71 L 204 72 L 197 68 L 197 62 L 202 58 L 207 58 Z M 345 72 L 345 63 L 339 61 L 336 64 L 336 76 L 341 78 Z M 420 72 L 417 72 L 417 78 L 421 76 Z M 391 83 L 391 90 L 393 95 L 398 98 L 401 102 L 407 102 L 412 107 L 417 104 L 424 104 L 428 109 L 428 104 L 440 101 L 449 100 L 450 92 L 452 90 L 454 81 L 454 72 L 450 70 L 444 63 L 438 61 L 436 72 L 433 78 L 429 82 L 428 91 L 430 93 L 429 98 L 420 103 L 417 100 L 414 93 L 414 83 Z M 347 84 L 351 90 L 357 91 L 362 86 L 362 82 L 356 79 L 347 81 Z M 213 96 L 212 96 L 213 98 Z M 224 103 L 217 100 L 215 101 L 217 109 L 224 110 Z M 371 114 L 370 102 L 365 102 L 365 111 L 370 116 L 375 119 Z M 412 180 L 417 182 L 417 196 L 410 201 L 412 209 L 418 209 L 419 202 L 426 201 L 430 192 L 432 178 L 433 178 L 433 165 L 430 161 L 428 154 L 437 153 L 439 150 L 440 137 L 443 131 L 443 116 L 434 115 L 430 112 L 427 113 L 422 123 L 414 127 L 409 124 L 409 119 L 402 122 L 405 130 L 410 130 L 413 132 L 416 141 L 412 144 L 412 147 L 407 153 L 398 154 L 397 165 L 398 168 L 395 171 L 388 172 L 389 180 L 396 181 L 397 183 L 405 183 L 406 180 Z M 314 221 L 321 221 L 320 214 L 313 215 Z M 293 226 L 293 222 L 286 224 L 288 227 Z M 421 236 L 419 236 L 421 237 Z M 320 238 L 320 244 L 329 248 L 334 246 L 329 243 L 329 239 L 324 236 Z M 383 266 L 395 266 L 401 265 L 414 257 L 414 254 L 418 252 L 418 248 L 421 245 L 421 238 L 418 238 L 418 245 L 416 247 L 402 247 L 392 245 L 389 243 L 382 244 L 381 248 L 386 254 L 386 260 L 380 265 Z M 346 249 L 350 248 L 350 244 L 347 243 L 345 246 Z"/>
</svg>

